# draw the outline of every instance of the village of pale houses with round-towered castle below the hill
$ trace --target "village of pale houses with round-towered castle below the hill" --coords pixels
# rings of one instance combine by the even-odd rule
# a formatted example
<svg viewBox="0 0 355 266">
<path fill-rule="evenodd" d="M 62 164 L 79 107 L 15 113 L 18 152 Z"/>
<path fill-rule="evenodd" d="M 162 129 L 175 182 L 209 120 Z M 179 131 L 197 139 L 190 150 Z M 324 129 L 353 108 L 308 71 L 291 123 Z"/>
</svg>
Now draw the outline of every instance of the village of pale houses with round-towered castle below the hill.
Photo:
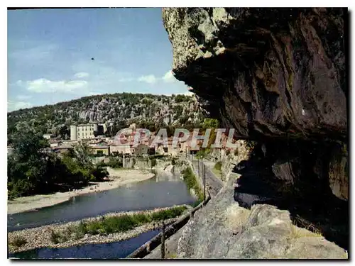
<svg viewBox="0 0 355 266">
<path fill-rule="evenodd" d="M 70 140 L 62 140 L 54 134 L 44 134 L 43 138 L 48 140 L 50 145 L 46 150 L 48 152 L 58 153 L 59 155 L 67 153 L 69 150 L 75 148 L 76 145 L 82 143 L 87 145 L 93 156 L 126 156 L 126 157 L 145 157 L 148 155 L 169 155 L 172 157 L 178 155 L 196 154 L 202 146 L 202 139 L 197 140 L 197 145 L 192 147 L 192 133 L 187 140 L 182 141 L 178 138 L 177 145 L 173 145 L 173 136 L 168 138 L 165 143 L 153 143 L 155 132 L 151 133 L 148 139 L 138 138 L 142 129 L 136 128 L 136 124 L 132 123 L 128 131 L 124 131 L 116 137 L 107 137 L 106 135 L 97 135 L 97 123 L 87 123 L 80 125 L 72 125 L 70 127 Z M 103 130 L 102 130 L 103 131 Z M 94 133 L 95 132 L 95 133 Z M 143 132 L 143 131 L 142 131 Z M 222 133 L 222 141 L 220 148 L 221 153 L 230 153 L 233 148 L 226 147 L 227 135 Z M 118 141 L 119 140 L 119 141 Z M 176 140 L 175 140 L 176 142 Z M 8 153 L 11 154 L 12 148 L 8 146 Z"/>
</svg>

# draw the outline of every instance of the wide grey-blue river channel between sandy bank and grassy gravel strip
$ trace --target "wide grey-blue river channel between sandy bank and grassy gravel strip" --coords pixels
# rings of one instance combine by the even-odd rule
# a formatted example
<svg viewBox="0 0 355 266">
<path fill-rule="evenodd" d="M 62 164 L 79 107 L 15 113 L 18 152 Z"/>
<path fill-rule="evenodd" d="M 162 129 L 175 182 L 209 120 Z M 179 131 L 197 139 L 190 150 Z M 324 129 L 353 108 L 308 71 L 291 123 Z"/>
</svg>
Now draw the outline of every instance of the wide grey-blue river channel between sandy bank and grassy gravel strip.
<svg viewBox="0 0 355 266">
<path fill-rule="evenodd" d="M 160 173 L 142 182 L 126 184 L 106 192 L 75 196 L 55 206 L 8 214 L 8 231 L 76 221 L 116 211 L 138 211 L 192 204 L 195 199 L 178 174 Z"/>
</svg>

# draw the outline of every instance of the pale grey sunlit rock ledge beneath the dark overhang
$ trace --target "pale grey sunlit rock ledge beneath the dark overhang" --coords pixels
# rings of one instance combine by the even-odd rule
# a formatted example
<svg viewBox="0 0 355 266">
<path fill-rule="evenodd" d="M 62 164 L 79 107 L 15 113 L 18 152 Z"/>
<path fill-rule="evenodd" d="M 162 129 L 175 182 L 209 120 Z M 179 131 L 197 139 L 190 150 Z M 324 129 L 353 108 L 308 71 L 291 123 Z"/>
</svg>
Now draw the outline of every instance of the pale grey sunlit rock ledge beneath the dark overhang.
<svg viewBox="0 0 355 266">
<path fill-rule="evenodd" d="M 346 252 L 321 235 L 293 226 L 288 211 L 257 204 L 241 208 L 231 197 L 234 178 L 183 228 L 178 258 L 344 259 Z"/>
</svg>

